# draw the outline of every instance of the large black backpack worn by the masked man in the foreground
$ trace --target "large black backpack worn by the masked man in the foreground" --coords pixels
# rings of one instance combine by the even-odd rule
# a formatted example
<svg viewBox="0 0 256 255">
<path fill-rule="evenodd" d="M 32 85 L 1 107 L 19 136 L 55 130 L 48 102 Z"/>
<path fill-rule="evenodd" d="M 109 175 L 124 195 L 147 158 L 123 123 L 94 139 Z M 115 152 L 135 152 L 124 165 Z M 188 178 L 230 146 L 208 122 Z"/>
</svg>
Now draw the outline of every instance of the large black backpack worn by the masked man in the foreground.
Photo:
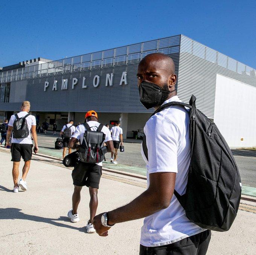
<svg viewBox="0 0 256 255">
<path fill-rule="evenodd" d="M 174 195 L 190 221 L 204 229 L 227 231 L 238 212 L 241 178 L 232 152 L 218 127 L 196 108 L 195 100 L 192 95 L 189 105 L 166 103 L 152 115 L 172 105 L 190 108 L 191 162 L 186 193 L 180 195 L 174 191 Z M 148 158 L 146 136 L 142 146 Z"/>
</svg>

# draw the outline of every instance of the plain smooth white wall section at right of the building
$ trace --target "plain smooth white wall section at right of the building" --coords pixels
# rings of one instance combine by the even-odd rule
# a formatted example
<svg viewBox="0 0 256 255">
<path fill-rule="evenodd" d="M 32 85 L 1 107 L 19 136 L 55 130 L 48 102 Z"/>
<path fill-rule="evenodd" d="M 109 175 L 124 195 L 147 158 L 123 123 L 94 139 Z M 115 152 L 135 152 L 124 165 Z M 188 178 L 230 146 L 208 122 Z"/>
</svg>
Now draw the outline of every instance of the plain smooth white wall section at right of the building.
<svg viewBox="0 0 256 255">
<path fill-rule="evenodd" d="M 256 146 L 256 87 L 219 74 L 216 78 L 214 122 L 219 131 L 230 147 Z"/>
</svg>

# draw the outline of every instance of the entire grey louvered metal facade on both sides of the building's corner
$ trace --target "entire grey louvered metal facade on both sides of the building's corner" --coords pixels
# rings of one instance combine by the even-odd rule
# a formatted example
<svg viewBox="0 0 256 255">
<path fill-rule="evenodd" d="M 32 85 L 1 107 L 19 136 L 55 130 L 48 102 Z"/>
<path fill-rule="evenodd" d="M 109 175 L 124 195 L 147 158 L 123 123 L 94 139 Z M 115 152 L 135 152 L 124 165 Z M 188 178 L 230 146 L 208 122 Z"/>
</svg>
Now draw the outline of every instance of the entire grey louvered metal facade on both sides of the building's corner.
<svg viewBox="0 0 256 255">
<path fill-rule="evenodd" d="M 17 111 L 23 100 L 29 100 L 31 110 L 38 112 L 85 112 L 91 108 L 98 112 L 148 112 L 139 100 L 136 73 L 140 60 L 154 52 L 174 59 L 178 96 L 188 102 L 194 94 L 198 108 L 209 118 L 214 117 L 217 74 L 256 87 L 253 68 L 177 35 L 2 71 L 0 84 L 10 82 L 11 87 L 9 103 L 0 102 L 0 111 Z M 124 72 L 127 84 L 120 85 Z M 108 74 L 113 74 L 112 86 L 106 86 Z M 97 87 L 93 85 L 95 76 L 99 76 Z M 78 79 L 74 88 L 73 78 Z M 62 80 L 67 81 L 67 89 L 61 89 Z M 57 90 L 53 90 L 55 81 Z M 49 82 L 46 91 L 45 82 Z"/>
</svg>

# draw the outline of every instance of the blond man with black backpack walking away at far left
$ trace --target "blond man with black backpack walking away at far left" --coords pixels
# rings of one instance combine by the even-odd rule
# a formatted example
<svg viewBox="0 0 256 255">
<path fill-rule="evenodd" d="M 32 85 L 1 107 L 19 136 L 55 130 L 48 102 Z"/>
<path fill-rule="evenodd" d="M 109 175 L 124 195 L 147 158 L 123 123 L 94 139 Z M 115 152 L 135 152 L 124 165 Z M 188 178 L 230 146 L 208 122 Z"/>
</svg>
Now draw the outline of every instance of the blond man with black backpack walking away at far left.
<svg viewBox="0 0 256 255">
<path fill-rule="evenodd" d="M 11 116 L 8 123 L 8 131 L 6 138 L 5 147 L 9 146 L 10 138 L 12 136 L 11 154 L 13 162 L 12 167 L 12 178 L 14 182 L 13 192 L 18 192 L 19 187 L 21 190 L 27 190 L 26 176 L 29 172 L 30 161 L 32 157 L 32 147 L 33 143 L 31 140 L 31 135 L 33 137 L 35 148 L 34 152 L 38 152 L 37 144 L 37 131 L 36 131 L 36 120 L 35 116 L 29 114 L 30 103 L 29 101 L 24 101 L 21 105 L 21 111 L 17 114 Z M 22 123 L 22 125 L 21 125 Z M 31 135 L 30 135 L 31 134 Z M 21 157 L 24 160 L 24 166 L 22 169 L 22 177 L 18 182 L 19 176 L 19 165 Z"/>
</svg>

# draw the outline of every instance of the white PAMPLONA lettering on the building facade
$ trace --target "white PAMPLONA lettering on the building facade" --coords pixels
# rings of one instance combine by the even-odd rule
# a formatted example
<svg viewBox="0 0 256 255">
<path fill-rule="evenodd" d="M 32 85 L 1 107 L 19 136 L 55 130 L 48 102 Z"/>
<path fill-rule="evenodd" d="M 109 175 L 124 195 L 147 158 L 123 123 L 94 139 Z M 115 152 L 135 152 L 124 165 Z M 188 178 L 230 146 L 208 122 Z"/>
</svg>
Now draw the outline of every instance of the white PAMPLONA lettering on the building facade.
<svg viewBox="0 0 256 255">
<path fill-rule="evenodd" d="M 85 77 L 82 77 L 80 79 L 83 79 L 82 82 L 82 88 L 87 88 L 87 85 L 85 85 Z M 114 80 L 114 74 L 113 73 L 107 73 L 106 75 L 106 83 L 105 86 L 113 86 L 113 80 Z M 93 78 L 93 87 L 97 88 L 99 86 L 100 77 L 99 75 L 95 75 Z M 72 79 L 72 90 L 75 88 L 75 85 L 78 83 L 77 78 Z M 53 81 L 52 91 L 58 90 L 58 80 Z M 120 79 L 119 85 L 127 85 L 127 73 L 123 72 L 122 77 Z M 69 86 L 69 80 L 68 79 L 62 79 L 61 80 L 61 90 L 67 90 Z M 44 91 L 46 91 L 49 87 L 49 82 L 44 82 Z"/>
</svg>

